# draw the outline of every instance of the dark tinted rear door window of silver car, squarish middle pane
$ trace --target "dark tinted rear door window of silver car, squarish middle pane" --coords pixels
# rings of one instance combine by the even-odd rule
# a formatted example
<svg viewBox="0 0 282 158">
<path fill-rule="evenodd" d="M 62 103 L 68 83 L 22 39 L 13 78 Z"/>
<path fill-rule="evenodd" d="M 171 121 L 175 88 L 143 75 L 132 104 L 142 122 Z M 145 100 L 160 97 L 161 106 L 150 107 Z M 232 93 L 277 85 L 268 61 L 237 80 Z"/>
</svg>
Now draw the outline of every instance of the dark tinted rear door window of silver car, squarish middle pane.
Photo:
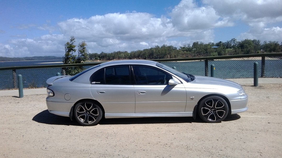
<svg viewBox="0 0 282 158">
<path fill-rule="evenodd" d="M 129 66 L 114 66 L 105 68 L 106 84 L 131 84 Z"/>
</svg>

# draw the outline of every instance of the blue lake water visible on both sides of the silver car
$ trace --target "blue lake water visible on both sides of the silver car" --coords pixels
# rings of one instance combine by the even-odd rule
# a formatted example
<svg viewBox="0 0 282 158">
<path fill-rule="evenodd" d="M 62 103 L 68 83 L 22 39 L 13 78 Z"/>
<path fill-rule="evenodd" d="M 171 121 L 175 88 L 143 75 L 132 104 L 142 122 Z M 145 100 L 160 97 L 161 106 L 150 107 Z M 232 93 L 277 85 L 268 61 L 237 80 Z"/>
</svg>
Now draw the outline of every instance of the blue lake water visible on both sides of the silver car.
<svg viewBox="0 0 282 158">
<path fill-rule="evenodd" d="M 41 60 L 41 61 L 15 61 L 0 62 L 0 67 L 10 66 L 34 66 L 34 65 L 54 65 L 62 60 Z M 208 61 L 208 71 L 210 76 L 210 65 L 215 65 L 215 77 L 218 78 L 249 78 L 254 77 L 254 62 L 259 64 L 259 77 L 261 76 L 261 60 L 223 60 Z M 173 67 L 180 72 L 192 75 L 205 75 L 204 61 L 189 62 L 162 62 L 163 64 Z M 91 66 L 85 66 L 89 68 Z M 35 69 L 19 69 L 16 74 L 23 76 L 23 86 L 46 87 L 46 80 L 56 76 L 57 72 L 61 72 L 61 68 L 35 68 Z M 265 60 L 265 76 L 266 77 L 282 77 L 282 60 Z M 0 70 L 0 89 L 13 88 L 12 70 Z"/>
</svg>

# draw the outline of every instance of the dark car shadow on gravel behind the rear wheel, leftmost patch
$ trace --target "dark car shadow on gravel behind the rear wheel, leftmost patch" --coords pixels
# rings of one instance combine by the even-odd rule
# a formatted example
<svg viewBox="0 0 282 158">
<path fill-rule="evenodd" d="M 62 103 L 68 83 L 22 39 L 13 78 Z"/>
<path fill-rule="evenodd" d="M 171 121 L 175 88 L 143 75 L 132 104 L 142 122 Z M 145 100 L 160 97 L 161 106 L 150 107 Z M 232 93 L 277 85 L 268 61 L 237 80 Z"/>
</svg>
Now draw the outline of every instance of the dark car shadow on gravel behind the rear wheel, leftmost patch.
<svg viewBox="0 0 282 158">
<path fill-rule="evenodd" d="M 66 125 L 66 126 L 80 126 L 76 121 L 71 121 L 69 117 L 58 116 L 50 113 L 48 110 L 44 110 L 36 114 L 32 121 L 44 124 L 56 124 L 56 125 Z"/>
</svg>

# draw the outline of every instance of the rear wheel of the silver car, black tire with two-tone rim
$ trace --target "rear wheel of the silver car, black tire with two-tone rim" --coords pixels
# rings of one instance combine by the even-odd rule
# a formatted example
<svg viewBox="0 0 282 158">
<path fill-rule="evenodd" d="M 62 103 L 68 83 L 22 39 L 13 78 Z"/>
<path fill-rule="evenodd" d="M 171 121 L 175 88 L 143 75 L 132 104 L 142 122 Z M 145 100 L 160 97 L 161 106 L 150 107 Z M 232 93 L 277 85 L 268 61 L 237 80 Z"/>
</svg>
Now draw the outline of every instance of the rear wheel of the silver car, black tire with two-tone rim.
<svg viewBox="0 0 282 158">
<path fill-rule="evenodd" d="M 74 107 L 74 117 L 83 126 L 94 126 L 99 123 L 103 112 L 93 101 L 86 100 L 77 103 Z"/>
</svg>

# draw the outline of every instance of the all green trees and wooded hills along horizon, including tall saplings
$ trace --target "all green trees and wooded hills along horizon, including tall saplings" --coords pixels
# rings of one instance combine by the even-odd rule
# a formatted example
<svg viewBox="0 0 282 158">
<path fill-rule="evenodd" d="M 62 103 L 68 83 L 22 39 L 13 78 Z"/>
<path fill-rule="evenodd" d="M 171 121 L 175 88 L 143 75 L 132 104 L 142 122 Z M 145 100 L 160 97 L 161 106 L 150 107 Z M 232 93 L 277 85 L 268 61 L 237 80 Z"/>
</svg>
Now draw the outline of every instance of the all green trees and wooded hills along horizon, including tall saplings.
<svg viewBox="0 0 282 158">
<path fill-rule="evenodd" d="M 73 39 L 72 39 L 73 38 Z M 64 63 L 83 63 L 85 60 L 114 60 L 114 59 L 166 59 L 166 58 L 183 58 L 183 57 L 204 57 L 204 56 L 221 56 L 221 55 L 238 55 L 238 54 L 254 54 L 263 52 L 282 52 L 282 43 L 277 41 L 264 41 L 245 39 L 237 41 L 233 38 L 229 41 L 217 43 L 194 42 L 184 44 L 179 48 L 175 46 L 155 46 L 143 50 L 136 51 L 114 51 L 111 53 L 101 52 L 89 53 L 86 49 L 85 41 L 78 45 L 79 53 L 75 55 L 76 49 L 74 45 L 74 37 L 70 37 L 70 41 L 65 45 L 67 54 L 63 56 Z M 214 47 L 215 48 L 212 48 Z M 67 49 L 66 49 L 67 48 Z M 71 50 L 71 48 L 73 48 Z M 74 51 L 75 50 L 75 51 Z M 28 61 L 28 60 L 60 60 L 62 57 L 55 56 L 34 56 L 34 57 L 0 57 L 0 61 Z"/>
</svg>

